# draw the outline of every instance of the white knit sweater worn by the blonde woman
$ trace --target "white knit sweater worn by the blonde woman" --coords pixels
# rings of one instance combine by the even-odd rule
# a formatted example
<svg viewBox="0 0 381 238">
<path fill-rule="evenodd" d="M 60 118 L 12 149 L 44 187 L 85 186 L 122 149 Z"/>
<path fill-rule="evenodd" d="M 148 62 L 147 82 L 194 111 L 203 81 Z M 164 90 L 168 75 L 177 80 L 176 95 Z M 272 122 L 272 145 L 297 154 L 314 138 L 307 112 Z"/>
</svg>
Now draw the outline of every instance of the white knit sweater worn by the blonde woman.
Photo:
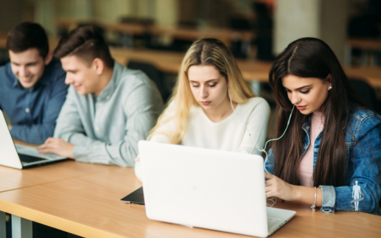
<svg viewBox="0 0 381 238">
<path fill-rule="evenodd" d="M 174 110 L 174 106 L 169 106 L 165 115 L 170 117 Z M 244 104 L 238 104 L 229 117 L 218 123 L 211 121 L 200 106 L 192 106 L 181 145 L 261 154 L 257 147 L 264 146 L 269 116 L 270 107 L 262 97 L 253 97 Z M 170 134 L 173 128 L 174 120 L 171 120 L 157 130 Z M 155 133 L 150 141 L 170 143 L 170 138 Z M 141 180 L 139 162 L 135 163 L 135 174 Z"/>
</svg>

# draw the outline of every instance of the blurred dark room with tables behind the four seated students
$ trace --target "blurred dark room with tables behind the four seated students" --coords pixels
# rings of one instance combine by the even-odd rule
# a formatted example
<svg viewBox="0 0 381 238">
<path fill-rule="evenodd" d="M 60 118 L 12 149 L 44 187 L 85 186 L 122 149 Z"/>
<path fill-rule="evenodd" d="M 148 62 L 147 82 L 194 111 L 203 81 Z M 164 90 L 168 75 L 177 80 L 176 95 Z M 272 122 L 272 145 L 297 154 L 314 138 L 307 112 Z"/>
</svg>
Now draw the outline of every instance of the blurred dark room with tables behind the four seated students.
<svg viewBox="0 0 381 238">
<path fill-rule="evenodd" d="M 115 60 L 145 71 L 164 99 L 189 45 L 218 38 L 272 107 L 266 82 L 277 54 L 297 38 L 321 38 L 363 101 L 380 112 L 381 0 L 0 0 L 0 20 L 0 64 L 8 62 L 7 32 L 22 21 L 41 23 L 51 50 L 71 29 L 92 24 Z"/>
</svg>

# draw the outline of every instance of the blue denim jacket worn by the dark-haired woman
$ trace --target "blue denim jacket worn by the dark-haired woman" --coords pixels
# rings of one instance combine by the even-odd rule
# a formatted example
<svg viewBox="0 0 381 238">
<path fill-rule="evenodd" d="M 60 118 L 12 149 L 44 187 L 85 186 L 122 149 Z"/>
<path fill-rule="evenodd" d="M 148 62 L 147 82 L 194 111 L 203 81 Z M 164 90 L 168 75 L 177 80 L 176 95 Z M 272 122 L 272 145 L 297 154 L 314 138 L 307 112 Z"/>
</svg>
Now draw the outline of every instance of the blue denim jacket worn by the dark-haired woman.
<svg viewBox="0 0 381 238">
<path fill-rule="evenodd" d="M 303 126 L 305 131 L 303 154 L 310 145 L 310 120 Z M 353 186 L 358 181 L 361 198 L 358 208 L 365 213 L 381 215 L 381 116 L 364 108 L 351 107 L 345 126 L 345 149 L 347 151 L 345 186 L 319 186 L 322 191 L 323 213 L 355 211 Z M 314 165 L 319 153 L 321 132 L 314 143 Z M 265 169 L 274 174 L 272 150 L 265 160 Z M 271 159 L 269 159 L 271 158 Z M 301 158 L 299 158 L 301 159 Z"/>
</svg>

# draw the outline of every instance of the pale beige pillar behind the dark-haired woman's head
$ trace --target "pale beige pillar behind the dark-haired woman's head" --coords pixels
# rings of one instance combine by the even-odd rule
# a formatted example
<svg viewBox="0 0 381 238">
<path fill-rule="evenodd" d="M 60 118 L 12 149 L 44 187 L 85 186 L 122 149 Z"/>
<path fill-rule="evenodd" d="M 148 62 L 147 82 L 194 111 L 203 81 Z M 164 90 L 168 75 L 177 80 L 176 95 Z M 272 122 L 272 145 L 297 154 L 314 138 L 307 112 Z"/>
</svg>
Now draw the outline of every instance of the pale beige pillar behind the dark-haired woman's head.
<svg viewBox="0 0 381 238">
<path fill-rule="evenodd" d="M 293 40 L 316 37 L 330 45 L 343 63 L 348 10 L 348 0 L 277 0 L 274 16 L 275 55 Z"/>
</svg>

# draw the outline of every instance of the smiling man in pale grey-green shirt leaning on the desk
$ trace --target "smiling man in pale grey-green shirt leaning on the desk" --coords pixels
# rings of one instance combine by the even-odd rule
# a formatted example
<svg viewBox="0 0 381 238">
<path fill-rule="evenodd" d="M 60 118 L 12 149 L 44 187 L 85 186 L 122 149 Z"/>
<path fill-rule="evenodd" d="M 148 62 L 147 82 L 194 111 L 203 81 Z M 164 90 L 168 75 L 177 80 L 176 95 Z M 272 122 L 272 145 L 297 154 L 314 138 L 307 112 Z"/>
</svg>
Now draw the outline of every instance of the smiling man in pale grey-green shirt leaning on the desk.
<svg viewBox="0 0 381 238">
<path fill-rule="evenodd" d="M 38 150 L 81 162 L 133 167 L 137 142 L 147 138 L 163 108 L 154 82 L 115 62 L 92 26 L 73 29 L 54 54 L 67 72 L 65 83 L 71 85 L 54 138 Z"/>
</svg>

